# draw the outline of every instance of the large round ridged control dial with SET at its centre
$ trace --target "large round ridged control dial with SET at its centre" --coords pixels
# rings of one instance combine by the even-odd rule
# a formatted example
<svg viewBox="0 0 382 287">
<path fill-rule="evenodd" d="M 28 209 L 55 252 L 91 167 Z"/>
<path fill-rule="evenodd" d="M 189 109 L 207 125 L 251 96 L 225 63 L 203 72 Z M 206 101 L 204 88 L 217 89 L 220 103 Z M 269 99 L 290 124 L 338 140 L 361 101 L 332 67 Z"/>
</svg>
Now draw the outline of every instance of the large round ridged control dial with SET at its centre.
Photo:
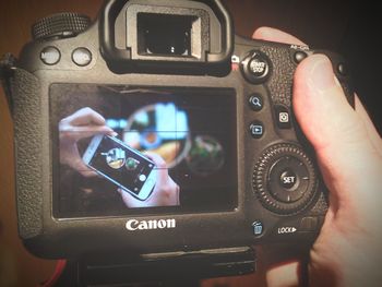
<svg viewBox="0 0 382 287">
<path fill-rule="evenodd" d="M 267 148 L 255 165 L 253 189 L 261 203 L 277 214 L 303 210 L 317 193 L 317 172 L 312 160 L 294 144 Z"/>
</svg>

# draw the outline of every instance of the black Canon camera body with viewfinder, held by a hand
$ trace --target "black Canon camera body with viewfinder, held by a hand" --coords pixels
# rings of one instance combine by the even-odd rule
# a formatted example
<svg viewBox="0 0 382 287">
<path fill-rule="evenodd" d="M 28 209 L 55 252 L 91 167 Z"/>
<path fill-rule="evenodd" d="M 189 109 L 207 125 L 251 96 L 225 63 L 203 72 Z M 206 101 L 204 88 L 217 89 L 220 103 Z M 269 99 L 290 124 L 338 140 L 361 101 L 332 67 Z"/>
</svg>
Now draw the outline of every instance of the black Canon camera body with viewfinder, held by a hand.
<svg viewBox="0 0 382 287">
<path fill-rule="evenodd" d="M 354 105 L 343 58 L 235 36 L 218 0 L 110 0 L 88 24 L 43 20 L 13 69 L 19 230 L 31 252 L 313 242 L 327 193 L 294 118 L 294 71 L 325 53 Z M 159 151 L 179 205 L 124 206 L 114 182 L 64 165 L 59 127 L 82 108 L 127 145 Z"/>
</svg>

